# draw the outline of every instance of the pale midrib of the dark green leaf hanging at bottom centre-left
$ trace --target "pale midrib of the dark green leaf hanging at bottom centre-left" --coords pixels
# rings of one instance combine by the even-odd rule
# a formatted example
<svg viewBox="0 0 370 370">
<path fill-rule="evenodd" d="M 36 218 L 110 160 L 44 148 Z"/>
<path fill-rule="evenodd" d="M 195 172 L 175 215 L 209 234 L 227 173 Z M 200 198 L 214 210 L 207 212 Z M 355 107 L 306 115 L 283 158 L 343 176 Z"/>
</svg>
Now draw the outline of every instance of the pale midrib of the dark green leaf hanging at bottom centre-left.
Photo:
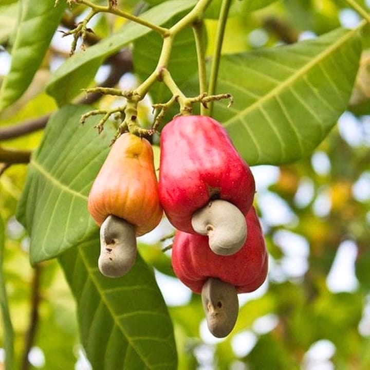
<svg viewBox="0 0 370 370">
<path fill-rule="evenodd" d="M 87 272 L 87 275 L 89 276 L 89 278 L 91 279 L 91 281 L 93 282 L 95 288 L 97 289 L 98 293 L 99 293 L 99 297 L 101 299 L 101 301 L 105 304 L 107 310 L 109 311 L 110 313 L 110 316 L 113 318 L 113 321 L 115 323 L 115 325 L 117 325 L 117 327 L 122 331 L 123 335 L 125 336 L 127 342 L 131 345 L 131 347 L 133 349 L 135 349 L 135 352 L 139 355 L 140 359 L 145 363 L 145 365 L 147 366 L 147 368 L 151 368 L 153 366 L 151 366 L 151 364 L 147 363 L 147 360 L 144 356 L 142 356 L 140 354 L 140 350 L 137 348 L 137 346 L 135 345 L 135 341 L 133 341 L 133 338 L 130 337 L 129 335 L 127 335 L 127 331 L 125 330 L 124 326 L 122 326 L 122 324 L 120 323 L 119 321 L 119 316 L 117 316 L 112 308 L 112 306 L 110 306 L 109 304 L 109 301 L 106 299 L 105 297 L 105 292 L 103 289 L 100 288 L 100 285 L 99 283 L 97 282 L 96 278 L 94 277 L 94 273 L 93 271 L 95 269 L 91 269 L 89 267 L 89 263 L 88 263 L 88 260 L 87 258 L 85 257 L 83 251 L 81 248 L 78 248 L 78 253 L 79 255 L 81 256 L 81 260 L 83 261 L 84 265 L 85 265 L 85 268 L 86 268 L 86 272 Z M 132 288 L 132 287 L 130 287 Z M 160 342 L 165 342 L 165 340 L 160 340 L 158 338 L 153 338 L 153 337 L 135 337 L 135 339 L 150 339 L 150 340 L 156 340 L 156 341 L 160 341 Z"/>
</svg>

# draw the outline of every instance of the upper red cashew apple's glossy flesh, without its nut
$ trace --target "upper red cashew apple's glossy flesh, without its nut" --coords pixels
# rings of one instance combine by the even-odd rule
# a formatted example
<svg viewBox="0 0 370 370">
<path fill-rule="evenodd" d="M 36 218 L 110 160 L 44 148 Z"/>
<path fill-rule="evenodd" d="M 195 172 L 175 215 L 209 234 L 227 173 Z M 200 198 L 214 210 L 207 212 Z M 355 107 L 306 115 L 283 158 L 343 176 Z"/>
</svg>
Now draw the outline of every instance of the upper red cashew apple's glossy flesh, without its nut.
<svg viewBox="0 0 370 370">
<path fill-rule="evenodd" d="M 159 197 L 175 228 L 195 233 L 193 213 L 213 199 L 248 212 L 254 178 L 220 123 L 205 116 L 176 117 L 164 126 L 160 146 Z"/>
</svg>

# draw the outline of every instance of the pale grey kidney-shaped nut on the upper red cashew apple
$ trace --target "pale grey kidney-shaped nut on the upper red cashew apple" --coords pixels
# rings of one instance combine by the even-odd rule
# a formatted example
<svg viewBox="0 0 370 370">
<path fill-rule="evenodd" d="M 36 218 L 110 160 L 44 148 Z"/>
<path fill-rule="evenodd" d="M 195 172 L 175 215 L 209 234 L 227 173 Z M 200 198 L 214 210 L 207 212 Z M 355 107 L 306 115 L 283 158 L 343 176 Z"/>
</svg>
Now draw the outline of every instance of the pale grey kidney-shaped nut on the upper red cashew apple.
<svg viewBox="0 0 370 370">
<path fill-rule="evenodd" d="M 244 214 L 227 200 L 212 200 L 196 211 L 192 227 L 198 234 L 208 235 L 210 248 L 219 255 L 236 253 L 247 238 Z"/>
</svg>

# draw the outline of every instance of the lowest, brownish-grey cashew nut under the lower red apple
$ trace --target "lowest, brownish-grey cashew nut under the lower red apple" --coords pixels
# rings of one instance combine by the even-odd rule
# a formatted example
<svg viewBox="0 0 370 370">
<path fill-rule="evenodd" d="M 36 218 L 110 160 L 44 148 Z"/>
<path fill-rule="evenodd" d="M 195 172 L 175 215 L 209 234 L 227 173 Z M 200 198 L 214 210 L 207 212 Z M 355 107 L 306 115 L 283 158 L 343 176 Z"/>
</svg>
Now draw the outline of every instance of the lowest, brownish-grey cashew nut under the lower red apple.
<svg viewBox="0 0 370 370">
<path fill-rule="evenodd" d="M 217 338 L 229 335 L 239 311 L 235 287 L 217 278 L 209 278 L 202 287 L 201 299 L 211 333 Z"/>
</svg>

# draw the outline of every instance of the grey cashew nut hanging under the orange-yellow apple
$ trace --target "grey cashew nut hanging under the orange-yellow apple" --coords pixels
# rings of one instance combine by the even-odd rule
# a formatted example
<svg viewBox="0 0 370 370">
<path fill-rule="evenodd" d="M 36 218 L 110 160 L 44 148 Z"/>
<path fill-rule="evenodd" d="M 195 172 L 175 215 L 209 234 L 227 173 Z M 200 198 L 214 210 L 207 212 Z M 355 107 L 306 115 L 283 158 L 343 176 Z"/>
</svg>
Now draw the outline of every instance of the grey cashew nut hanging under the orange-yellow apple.
<svg viewBox="0 0 370 370">
<path fill-rule="evenodd" d="M 134 265 L 136 254 L 134 226 L 109 215 L 100 227 L 100 272 L 109 278 L 119 278 Z"/>
</svg>

